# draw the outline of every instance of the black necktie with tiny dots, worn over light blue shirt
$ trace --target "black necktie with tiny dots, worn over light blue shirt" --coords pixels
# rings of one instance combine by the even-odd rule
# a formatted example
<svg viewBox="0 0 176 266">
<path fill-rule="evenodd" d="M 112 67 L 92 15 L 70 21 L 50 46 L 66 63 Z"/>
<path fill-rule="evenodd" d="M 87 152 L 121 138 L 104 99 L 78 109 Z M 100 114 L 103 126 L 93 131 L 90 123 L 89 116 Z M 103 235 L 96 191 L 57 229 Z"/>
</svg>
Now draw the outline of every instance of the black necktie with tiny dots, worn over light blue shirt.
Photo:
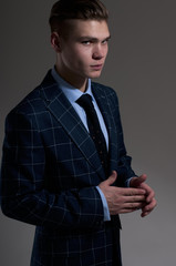
<svg viewBox="0 0 176 266">
<path fill-rule="evenodd" d="M 79 105 L 82 106 L 86 113 L 86 121 L 87 121 L 90 135 L 95 143 L 105 174 L 107 174 L 108 156 L 107 156 L 106 142 L 100 126 L 96 111 L 92 103 L 92 96 L 90 94 L 83 94 L 81 98 L 76 100 L 76 103 L 79 103 Z"/>
</svg>

